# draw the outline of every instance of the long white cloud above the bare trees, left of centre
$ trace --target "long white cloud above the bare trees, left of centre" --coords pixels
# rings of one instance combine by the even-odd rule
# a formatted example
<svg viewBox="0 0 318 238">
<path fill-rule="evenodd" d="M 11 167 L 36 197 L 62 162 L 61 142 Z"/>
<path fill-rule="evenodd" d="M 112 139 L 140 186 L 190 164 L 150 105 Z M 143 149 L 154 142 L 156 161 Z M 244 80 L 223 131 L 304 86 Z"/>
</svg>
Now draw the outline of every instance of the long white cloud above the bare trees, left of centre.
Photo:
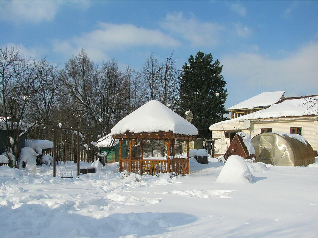
<svg viewBox="0 0 318 238">
<path fill-rule="evenodd" d="M 82 33 L 68 40 L 55 40 L 53 50 L 70 57 L 80 49 L 92 52 L 95 61 L 107 59 L 107 51 L 122 50 L 125 47 L 156 46 L 177 47 L 180 43 L 160 30 L 145 29 L 132 24 L 98 24 L 98 29 Z"/>
</svg>

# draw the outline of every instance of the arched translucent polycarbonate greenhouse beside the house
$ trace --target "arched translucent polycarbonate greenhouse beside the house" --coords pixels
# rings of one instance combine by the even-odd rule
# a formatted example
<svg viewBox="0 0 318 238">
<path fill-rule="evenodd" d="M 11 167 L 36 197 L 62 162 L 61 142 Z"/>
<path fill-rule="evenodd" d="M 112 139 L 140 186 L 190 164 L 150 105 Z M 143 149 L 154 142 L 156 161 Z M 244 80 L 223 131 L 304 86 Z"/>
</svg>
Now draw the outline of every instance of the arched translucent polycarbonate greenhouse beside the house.
<svg viewBox="0 0 318 238">
<path fill-rule="evenodd" d="M 301 142 L 287 134 L 261 133 L 252 138 L 252 144 L 255 148 L 256 162 L 276 166 L 307 166 L 315 163 L 315 153 L 311 145 L 305 140 Z"/>
</svg>

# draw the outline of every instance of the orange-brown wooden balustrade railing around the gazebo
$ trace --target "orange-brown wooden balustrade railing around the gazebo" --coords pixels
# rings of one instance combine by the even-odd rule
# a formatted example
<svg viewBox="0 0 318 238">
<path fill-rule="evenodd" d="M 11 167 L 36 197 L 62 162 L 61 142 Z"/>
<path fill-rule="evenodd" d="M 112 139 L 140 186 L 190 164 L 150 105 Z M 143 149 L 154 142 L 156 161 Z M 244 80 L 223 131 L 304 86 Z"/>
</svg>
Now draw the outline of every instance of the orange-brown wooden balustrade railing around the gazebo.
<svg viewBox="0 0 318 238">
<path fill-rule="evenodd" d="M 165 160 L 152 160 L 134 157 L 119 159 L 120 171 L 127 170 L 136 174 L 156 175 L 158 173 L 176 173 L 178 175 L 189 174 L 189 159 L 173 158 Z"/>
</svg>

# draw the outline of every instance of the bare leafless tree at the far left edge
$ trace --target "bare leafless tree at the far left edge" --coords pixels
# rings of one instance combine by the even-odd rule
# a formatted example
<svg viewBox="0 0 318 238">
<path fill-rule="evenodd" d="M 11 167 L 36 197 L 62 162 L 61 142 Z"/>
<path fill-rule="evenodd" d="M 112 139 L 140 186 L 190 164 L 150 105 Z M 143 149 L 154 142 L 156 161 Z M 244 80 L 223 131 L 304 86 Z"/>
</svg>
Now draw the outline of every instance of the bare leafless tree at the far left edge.
<svg viewBox="0 0 318 238">
<path fill-rule="evenodd" d="M 6 130 L 6 142 L 2 138 L 2 143 L 8 157 L 17 155 L 19 137 L 37 124 L 37 121 L 30 123 L 26 117 L 31 110 L 30 99 L 38 92 L 37 67 L 38 62 L 20 56 L 14 47 L 0 47 L 0 113 L 3 116 L 0 123 Z"/>
</svg>

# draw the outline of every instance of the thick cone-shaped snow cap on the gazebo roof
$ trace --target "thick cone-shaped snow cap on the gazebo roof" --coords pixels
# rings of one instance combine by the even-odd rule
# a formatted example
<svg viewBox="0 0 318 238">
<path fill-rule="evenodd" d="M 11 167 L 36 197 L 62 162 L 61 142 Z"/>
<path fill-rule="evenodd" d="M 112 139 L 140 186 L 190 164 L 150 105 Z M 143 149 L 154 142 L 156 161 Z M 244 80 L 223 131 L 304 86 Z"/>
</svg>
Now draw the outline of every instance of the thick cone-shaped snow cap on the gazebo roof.
<svg viewBox="0 0 318 238">
<path fill-rule="evenodd" d="M 156 100 L 145 103 L 124 117 L 111 129 L 111 134 L 124 134 L 126 131 L 134 133 L 172 131 L 174 134 L 189 136 L 198 134 L 194 125 Z"/>
</svg>

